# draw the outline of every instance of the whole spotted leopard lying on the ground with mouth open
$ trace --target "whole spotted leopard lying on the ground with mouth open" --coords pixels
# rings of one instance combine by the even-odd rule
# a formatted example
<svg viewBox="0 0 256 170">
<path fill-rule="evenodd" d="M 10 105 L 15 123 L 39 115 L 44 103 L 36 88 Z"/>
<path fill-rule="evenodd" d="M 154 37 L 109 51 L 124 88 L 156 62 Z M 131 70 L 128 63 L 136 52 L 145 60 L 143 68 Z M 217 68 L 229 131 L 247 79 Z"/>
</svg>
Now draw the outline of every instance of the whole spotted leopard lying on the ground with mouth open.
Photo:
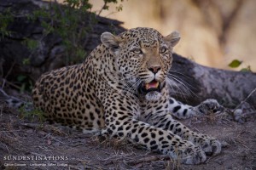
<svg viewBox="0 0 256 170">
<path fill-rule="evenodd" d="M 148 27 L 119 35 L 103 32 L 101 44 L 82 63 L 38 79 L 32 89 L 33 104 L 49 122 L 127 139 L 183 164 L 200 164 L 219 154 L 221 143 L 177 119 L 219 105 L 208 99 L 193 107 L 169 95 L 167 74 L 180 38 L 178 31 L 164 37 Z"/>
</svg>

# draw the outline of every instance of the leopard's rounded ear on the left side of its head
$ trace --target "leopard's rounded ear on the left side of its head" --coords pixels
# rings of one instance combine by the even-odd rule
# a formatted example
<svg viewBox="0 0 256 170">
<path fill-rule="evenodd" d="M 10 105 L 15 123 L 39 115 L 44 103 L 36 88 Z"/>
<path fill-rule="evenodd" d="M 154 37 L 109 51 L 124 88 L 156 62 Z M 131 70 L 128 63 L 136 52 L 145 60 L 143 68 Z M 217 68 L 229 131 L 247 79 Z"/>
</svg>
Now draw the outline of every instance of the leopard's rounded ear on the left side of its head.
<svg viewBox="0 0 256 170">
<path fill-rule="evenodd" d="M 115 37 L 110 32 L 104 32 L 101 36 L 101 41 L 107 48 L 118 48 L 119 47 L 119 37 Z"/>
</svg>

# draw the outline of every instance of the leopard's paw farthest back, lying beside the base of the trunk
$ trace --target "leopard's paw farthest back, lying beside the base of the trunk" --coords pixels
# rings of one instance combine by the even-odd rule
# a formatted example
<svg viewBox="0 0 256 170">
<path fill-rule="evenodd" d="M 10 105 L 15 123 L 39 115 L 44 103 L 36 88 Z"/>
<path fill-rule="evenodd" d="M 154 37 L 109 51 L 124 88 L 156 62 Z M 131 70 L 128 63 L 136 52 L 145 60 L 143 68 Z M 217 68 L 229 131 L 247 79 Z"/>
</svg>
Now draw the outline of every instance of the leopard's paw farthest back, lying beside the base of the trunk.
<svg viewBox="0 0 256 170">
<path fill-rule="evenodd" d="M 197 115 L 207 115 L 209 112 L 223 111 L 224 107 L 218 104 L 216 99 L 207 99 L 194 109 Z"/>
</svg>

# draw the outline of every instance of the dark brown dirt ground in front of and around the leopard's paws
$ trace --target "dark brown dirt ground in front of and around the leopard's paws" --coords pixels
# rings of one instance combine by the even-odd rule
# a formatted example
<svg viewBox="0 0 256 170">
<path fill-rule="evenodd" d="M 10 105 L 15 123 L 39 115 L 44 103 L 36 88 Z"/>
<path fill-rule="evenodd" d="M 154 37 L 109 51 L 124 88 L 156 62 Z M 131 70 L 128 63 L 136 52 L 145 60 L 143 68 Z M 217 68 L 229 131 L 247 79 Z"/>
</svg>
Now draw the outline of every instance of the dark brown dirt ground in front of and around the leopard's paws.
<svg viewBox="0 0 256 170">
<path fill-rule="evenodd" d="M 200 165 L 181 165 L 125 141 L 102 141 L 2 105 L 0 169 L 256 169 L 255 116 L 242 124 L 210 116 L 183 123 L 219 139 L 221 154 Z"/>
</svg>

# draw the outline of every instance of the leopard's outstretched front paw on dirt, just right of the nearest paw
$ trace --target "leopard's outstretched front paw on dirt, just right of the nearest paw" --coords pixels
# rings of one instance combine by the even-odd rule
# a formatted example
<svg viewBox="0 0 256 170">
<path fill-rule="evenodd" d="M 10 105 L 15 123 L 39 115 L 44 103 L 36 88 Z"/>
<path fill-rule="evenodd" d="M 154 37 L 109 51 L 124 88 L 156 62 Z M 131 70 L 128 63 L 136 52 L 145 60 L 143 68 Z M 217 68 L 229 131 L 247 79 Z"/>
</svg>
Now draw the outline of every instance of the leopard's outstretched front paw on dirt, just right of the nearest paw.
<svg viewBox="0 0 256 170">
<path fill-rule="evenodd" d="M 215 156 L 221 151 L 221 143 L 217 139 L 206 139 L 201 144 L 201 148 L 207 156 Z"/>
</svg>

